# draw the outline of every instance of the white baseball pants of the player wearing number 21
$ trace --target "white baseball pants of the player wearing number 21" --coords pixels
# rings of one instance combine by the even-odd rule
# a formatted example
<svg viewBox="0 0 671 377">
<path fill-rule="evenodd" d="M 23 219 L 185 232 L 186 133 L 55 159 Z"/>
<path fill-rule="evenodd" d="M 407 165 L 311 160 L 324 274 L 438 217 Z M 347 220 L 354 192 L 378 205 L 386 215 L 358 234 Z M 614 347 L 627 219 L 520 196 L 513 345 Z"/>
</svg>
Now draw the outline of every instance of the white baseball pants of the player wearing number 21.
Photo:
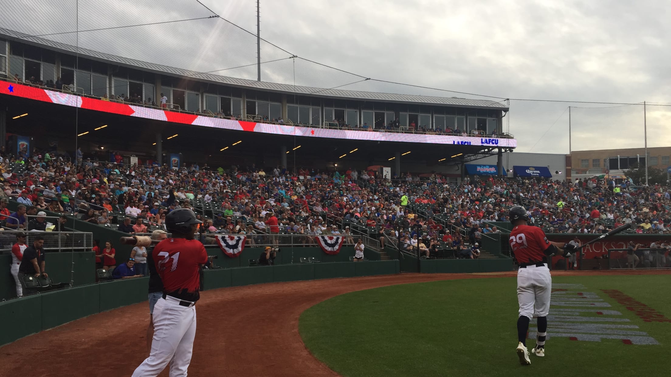
<svg viewBox="0 0 671 377">
<path fill-rule="evenodd" d="M 167 296 L 154 306 L 154 339 L 148 358 L 132 377 L 156 377 L 170 363 L 170 377 L 187 376 L 196 336 L 196 307 Z"/>
</svg>

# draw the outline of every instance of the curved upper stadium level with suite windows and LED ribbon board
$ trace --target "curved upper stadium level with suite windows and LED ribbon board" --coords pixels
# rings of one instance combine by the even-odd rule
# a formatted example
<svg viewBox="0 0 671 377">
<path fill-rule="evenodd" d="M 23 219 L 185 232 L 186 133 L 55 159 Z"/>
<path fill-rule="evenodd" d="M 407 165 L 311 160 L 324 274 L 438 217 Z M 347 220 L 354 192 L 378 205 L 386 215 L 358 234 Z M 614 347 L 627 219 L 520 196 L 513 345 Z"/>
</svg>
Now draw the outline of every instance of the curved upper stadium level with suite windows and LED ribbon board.
<svg viewBox="0 0 671 377">
<path fill-rule="evenodd" d="M 8 39 L 12 38 L 10 31 L 2 32 Z M 451 170 L 442 169 L 441 165 L 496 155 L 499 150 L 512 150 L 516 146 L 514 139 L 492 136 L 492 133 L 501 133 L 501 119 L 507 111 L 507 107 L 493 101 L 354 91 L 305 95 L 313 93 L 315 88 L 211 75 L 207 75 L 207 80 L 187 80 L 178 74 L 164 74 L 170 67 L 152 65 L 148 68 L 146 63 L 130 60 L 122 64 L 95 56 L 94 52 L 81 56 L 78 68 L 74 69 L 74 58 L 63 46 L 56 48 L 49 46 L 48 41 L 43 42 L 34 46 L 0 42 L 0 54 L 6 52 L 7 56 L 6 67 L 0 67 L 0 72 L 5 70 L 5 76 L 21 80 L 34 77 L 33 80 L 38 83 L 41 80 L 42 85 L 52 80 L 52 76 L 61 77 L 63 84 L 71 84 L 69 89 L 84 95 L 45 92 L 47 88 L 25 87 L 11 79 L 2 83 L 0 100 L 9 113 L 0 115 L 7 121 L 0 127 L 0 133 L 2 136 L 6 133 L 40 135 L 42 138 L 34 140 L 38 147 L 48 143 L 44 139 L 50 139 L 59 143 L 59 149 L 74 150 L 72 134 L 85 133 L 77 140 L 83 152 L 100 152 L 99 146 L 103 146 L 106 150 L 132 152 L 140 158 L 182 153 L 183 162 L 207 160 L 223 166 L 242 163 L 287 166 L 287 162 L 291 166 L 293 157 L 300 155 L 303 160 L 315 161 L 315 167 L 336 163 L 356 164 L 352 167 L 358 168 L 385 164 L 395 168 L 393 174 L 397 174 L 401 170 L 401 159 L 404 171 L 421 172 L 421 168 L 429 164 L 432 166 L 427 171 L 440 172 Z M 174 68 L 170 71 L 174 72 Z M 163 111 L 160 107 L 144 107 L 127 101 L 99 101 L 102 95 L 113 97 L 126 93 L 136 93 L 148 104 L 156 102 L 160 93 L 164 93 L 168 98 L 167 107 L 174 103 L 174 109 L 187 111 Z M 81 118 L 77 126 L 72 106 L 92 109 L 79 111 Z M 12 119 L 14 113 L 28 115 Z M 209 116 L 213 114 L 221 114 L 221 117 Z M 224 114 L 250 123 L 231 120 L 223 117 Z M 264 118 L 282 118 L 286 123 L 270 124 L 272 121 L 262 120 Z M 305 124 L 287 125 L 291 118 L 295 118 L 293 123 Z M 340 120 L 342 125 L 325 122 L 333 119 Z M 344 128 L 364 124 L 369 128 L 391 129 L 372 132 L 365 128 Z M 100 129 L 103 125 L 108 126 Z M 413 125 L 415 131 L 409 132 Z M 422 128 L 425 131 L 417 131 Z M 478 129 L 483 135 L 463 137 L 460 133 L 444 133 L 451 129 L 467 132 Z M 170 138 L 174 135 L 177 136 Z M 242 143 L 234 145 L 239 141 Z M 426 148 L 427 143 L 431 144 L 429 148 Z M 297 146 L 301 150 L 295 150 Z"/>
</svg>

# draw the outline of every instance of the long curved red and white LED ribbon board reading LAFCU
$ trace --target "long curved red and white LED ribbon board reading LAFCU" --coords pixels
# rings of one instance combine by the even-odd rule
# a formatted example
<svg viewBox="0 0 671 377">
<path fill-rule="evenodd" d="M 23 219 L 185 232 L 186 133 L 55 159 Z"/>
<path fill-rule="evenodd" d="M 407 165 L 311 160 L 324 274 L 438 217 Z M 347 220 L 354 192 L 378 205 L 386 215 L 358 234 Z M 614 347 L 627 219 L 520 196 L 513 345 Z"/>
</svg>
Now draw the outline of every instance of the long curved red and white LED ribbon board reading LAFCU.
<svg viewBox="0 0 671 377">
<path fill-rule="evenodd" d="M 325 129 L 319 127 L 296 127 L 288 124 L 256 123 L 253 121 L 237 121 L 233 119 L 221 119 L 206 117 L 189 113 L 178 113 L 160 109 L 150 109 L 142 106 L 128 105 L 112 101 L 103 101 L 89 97 L 80 97 L 57 91 L 50 91 L 28 85 L 9 83 L 0 80 L 0 94 L 12 95 L 36 101 L 57 103 L 81 109 L 104 111 L 131 117 L 141 117 L 159 121 L 170 121 L 203 127 L 214 127 L 232 129 L 235 131 L 250 131 L 260 133 L 274 133 L 287 136 L 308 136 L 315 138 L 348 139 L 348 140 L 372 140 L 378 142 L 404 142 L 404 143 L 429 143 L 429 144 L 459 144 L 469 146 L 499 146 L 517 147 L 515 139 L 499 138 L 474 138 L 470 136 L 450 135 L 427 135 L 425 133 L 397 133 L 377 131 L 356 131 L 352 129 Z"/>
</svg>

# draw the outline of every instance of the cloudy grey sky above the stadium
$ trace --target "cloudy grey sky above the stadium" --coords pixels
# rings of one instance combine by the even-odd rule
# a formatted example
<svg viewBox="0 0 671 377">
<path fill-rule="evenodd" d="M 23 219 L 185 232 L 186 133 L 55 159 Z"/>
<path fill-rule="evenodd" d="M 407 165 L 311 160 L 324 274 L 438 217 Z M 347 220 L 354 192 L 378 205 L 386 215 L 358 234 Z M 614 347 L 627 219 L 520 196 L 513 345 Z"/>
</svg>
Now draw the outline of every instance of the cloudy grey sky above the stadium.
<svg viewBox="0 0 671 377">
<path fill-rule="evenodd" d="M 201 1 L 256 32 L 256 1 Z M 74 3 L 13 1 L 0 26 L 32 35 L 76 30 Z M 515 99 L 671 103 L 666 1 L 262 0 L 261 12 L 262 38 L 302 58 L 369 78 L 513 99 L 505 128 L 509 121 L 519 152 L 567 153 L 569 106 L 573 150 L 642 147 L 643 106 Z M 209 15 L 195 0 L 87 0 L 79 30 Z M 78 42 L 75 34 L 44 38 Z M 80 33 L 79 46 L 256 78 L 253 66 L 221 70 L 256 62 L 254 36 L 223 19 Z M 288 56 L 262 44 L 262 61 Z M 263 78 L 315 87 L 360 80 L 299 59 L 263 64 Z M 372 80 L 342 89 L 474 97 Z M 646 116 L 648 146 L 668 146 L 671 107 L 648 106 Z"/>
</svg>

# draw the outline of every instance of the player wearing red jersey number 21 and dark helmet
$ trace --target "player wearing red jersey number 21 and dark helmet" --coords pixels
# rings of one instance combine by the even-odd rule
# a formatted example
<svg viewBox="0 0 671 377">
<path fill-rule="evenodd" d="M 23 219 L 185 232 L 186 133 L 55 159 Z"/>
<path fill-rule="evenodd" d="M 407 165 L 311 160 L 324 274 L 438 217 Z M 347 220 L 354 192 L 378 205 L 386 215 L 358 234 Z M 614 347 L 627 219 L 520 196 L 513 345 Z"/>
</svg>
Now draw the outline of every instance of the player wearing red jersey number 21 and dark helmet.
<svg viewBox="0 0 671 377">
<path fill-rule="evenodd" d="M 170 363 L 170 377 L 187 376 L 196 335 L 196 301 L 200 298 L 200 269 L 207 252 L 194 239 L 198 224 L 188 208 L 174 209 L 166 216 L 171 238 L 160 241 L 152 252 L 156 271 L 163 282 L 163 295 L 154 305 L 154 337 L 148 358 L 133 377 L 155 377 Z"/>
</svg>

